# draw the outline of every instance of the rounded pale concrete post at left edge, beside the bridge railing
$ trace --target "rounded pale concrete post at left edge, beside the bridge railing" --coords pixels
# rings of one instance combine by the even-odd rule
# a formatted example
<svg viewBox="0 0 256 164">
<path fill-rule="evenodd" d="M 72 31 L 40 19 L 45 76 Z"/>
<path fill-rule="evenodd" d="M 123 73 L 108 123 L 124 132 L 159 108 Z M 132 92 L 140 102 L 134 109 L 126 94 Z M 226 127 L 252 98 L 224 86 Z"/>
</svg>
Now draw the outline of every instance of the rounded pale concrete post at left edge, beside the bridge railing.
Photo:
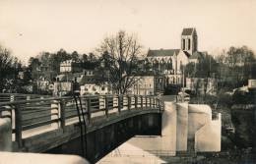
<svg viewBox="0 0 256 164">
<path fill-rule="evenodd" d="M 0 118 L 0 151 L 12 151 L 12 124 L 10 118 Z"/>
</svg>

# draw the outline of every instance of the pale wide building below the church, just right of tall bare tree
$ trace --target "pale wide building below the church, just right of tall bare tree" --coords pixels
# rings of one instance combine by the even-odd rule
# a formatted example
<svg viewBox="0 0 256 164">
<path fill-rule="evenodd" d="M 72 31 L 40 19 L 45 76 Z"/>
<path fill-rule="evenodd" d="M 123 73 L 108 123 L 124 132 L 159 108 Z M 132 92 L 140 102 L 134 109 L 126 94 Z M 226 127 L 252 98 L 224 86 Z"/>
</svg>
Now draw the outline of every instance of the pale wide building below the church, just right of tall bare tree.
<svg viewBox="0 0 256 164">
<path fill-rule="evenodd" d="M 137 76 L 130 92 L 137 95 L 156 95 L 163 92 L 164 85 L 163 76 Z"/>
</svg>

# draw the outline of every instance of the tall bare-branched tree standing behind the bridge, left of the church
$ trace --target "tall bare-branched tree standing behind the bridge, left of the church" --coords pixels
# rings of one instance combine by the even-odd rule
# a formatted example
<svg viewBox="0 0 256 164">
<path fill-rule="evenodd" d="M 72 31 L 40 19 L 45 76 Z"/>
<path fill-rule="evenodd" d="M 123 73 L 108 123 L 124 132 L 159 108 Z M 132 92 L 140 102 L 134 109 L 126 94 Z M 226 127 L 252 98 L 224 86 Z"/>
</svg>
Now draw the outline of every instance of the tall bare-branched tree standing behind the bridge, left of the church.
<svg viewBox="0 0 256 164">
<path fill-rule="evenodd" d="M 135 75 L 141 50 L 142 46 L 137 38 L 123 30 L 104 38 L 97 49 L 102 54 L 103 68 L 109 72 L 109 81 L 117 93 L 127 93 L 136 82 Z"/>
</svg>

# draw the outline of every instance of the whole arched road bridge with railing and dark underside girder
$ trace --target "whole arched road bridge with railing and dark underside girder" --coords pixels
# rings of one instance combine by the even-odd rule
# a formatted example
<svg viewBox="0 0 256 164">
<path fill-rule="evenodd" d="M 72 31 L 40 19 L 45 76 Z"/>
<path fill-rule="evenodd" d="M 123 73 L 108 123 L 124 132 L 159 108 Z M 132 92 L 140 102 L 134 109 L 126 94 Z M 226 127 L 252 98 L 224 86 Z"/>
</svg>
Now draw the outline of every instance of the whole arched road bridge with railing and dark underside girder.
<svg viewBox="0 0 256 164">
<path fill-rule="evenodd" d="M 158 97 L 139 95 L 0 102 L 0 150 L 77 154 L 95 163 L 131 137 L 160 136 L 162 111 Z"/>
</svg>

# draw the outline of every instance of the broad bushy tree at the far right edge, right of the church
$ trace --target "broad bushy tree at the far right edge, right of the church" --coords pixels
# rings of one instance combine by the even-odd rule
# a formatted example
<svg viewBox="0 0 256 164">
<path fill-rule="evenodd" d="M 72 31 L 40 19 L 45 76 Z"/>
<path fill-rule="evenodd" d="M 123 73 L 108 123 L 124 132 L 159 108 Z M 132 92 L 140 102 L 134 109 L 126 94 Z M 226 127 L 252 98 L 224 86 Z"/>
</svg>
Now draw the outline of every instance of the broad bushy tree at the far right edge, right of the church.
<svg viewBox="0 0 256 164">
<path fill-rule="evenodd" d="M 248 79 L 253 75 L 252 65 L 255 62 L 255 55 L 247 46 L 230 47 L 223 50 L 218 56 L 219 82 L 221 88 L 235 88 L 246 85 Z"/>
</svg>

